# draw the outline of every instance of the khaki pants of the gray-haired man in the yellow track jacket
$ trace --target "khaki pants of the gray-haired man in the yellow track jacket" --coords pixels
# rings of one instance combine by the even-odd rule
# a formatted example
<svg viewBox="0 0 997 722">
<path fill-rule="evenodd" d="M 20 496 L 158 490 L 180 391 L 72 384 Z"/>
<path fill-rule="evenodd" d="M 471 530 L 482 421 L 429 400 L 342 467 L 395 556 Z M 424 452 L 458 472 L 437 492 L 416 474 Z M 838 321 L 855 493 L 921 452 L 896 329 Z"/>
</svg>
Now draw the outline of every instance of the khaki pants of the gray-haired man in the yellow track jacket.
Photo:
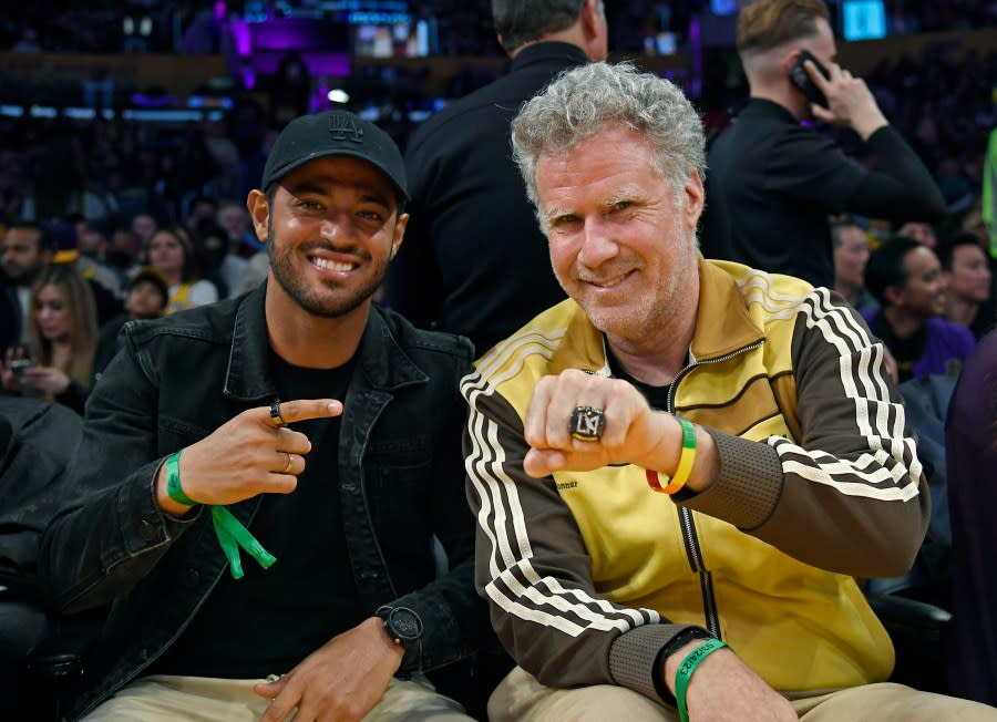
<svg viewBox="0 0 997 722">
<path fill-rule="evenodd" d="M 997 709 L 954 697 L 918 692 L 902 684 L 866 684 L 796 699 L 805 722 L 975 722 L 997 721 Z M 491 722 L 678 722 L 670 706 L 623 687 L 599 684 L 571 690 L 544 687 L 515 668 L 489 700 Z"/>
</svg>

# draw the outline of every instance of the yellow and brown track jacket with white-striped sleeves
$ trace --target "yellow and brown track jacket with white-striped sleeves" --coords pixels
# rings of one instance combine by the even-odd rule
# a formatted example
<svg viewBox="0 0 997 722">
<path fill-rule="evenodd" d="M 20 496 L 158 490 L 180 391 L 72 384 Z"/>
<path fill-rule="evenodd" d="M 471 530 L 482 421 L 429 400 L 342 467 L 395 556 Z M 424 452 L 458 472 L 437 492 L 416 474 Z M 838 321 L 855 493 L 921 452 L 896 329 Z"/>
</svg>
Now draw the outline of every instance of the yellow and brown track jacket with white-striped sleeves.
<svg viewBox="0 0 997 722">
<path fill-rule="evenodd" d="M 720 477 L 701 494 L 656 494 L 634 465 L 525 474 L 536 380 L 610 373 L 602 333 L 572 300 L 462 381 L 475 577 L 492 623 L 553 687 L 660 699 L 660 650 L 687 625 L 780 691 L 885 680 L 893 648 L 855 577 L 909 567 L 929 501 L 884 349 L 828 289 L 723 261 L 700 259 L 699 274 L 666 411 L 717 442 Z"/>
</svg>

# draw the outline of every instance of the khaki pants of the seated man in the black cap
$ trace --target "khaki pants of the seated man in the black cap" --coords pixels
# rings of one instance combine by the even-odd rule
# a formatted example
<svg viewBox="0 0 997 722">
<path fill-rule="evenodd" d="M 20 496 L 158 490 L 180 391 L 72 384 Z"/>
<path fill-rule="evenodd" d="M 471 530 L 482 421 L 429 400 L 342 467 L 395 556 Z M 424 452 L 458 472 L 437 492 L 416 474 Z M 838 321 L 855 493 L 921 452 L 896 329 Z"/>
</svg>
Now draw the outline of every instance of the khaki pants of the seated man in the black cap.
<svg viewBox="0 0 997 722">
<path fill-rule="evenodd" d="M 86 722 L 258 722 L 269 700 L 253 691 L 263 680 L 153 674 L 135 680 L 88 714 Z M 294 715 L 291 715 L 292 719 Z M 391 680 L 364 722 L 467 722 L 463 708 L 428 680 Z"/>
</svg>

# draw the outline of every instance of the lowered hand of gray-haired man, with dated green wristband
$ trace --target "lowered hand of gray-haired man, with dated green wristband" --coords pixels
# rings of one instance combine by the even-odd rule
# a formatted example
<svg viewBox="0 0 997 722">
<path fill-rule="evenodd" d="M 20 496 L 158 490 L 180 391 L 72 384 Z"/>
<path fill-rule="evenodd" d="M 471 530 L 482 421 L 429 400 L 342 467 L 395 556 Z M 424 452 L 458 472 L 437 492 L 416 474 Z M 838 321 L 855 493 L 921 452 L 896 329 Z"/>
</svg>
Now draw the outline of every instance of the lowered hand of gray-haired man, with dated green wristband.
<svg viewBox="0 0 997 722">
<path fill-rule="evenodd" d="M 702 643 L 693 640 L 665 661 L 665 682 L 675 693 L 675 674 L 686 654 Z M 769 687 L 730 649 L 718 649 L 696 667 L 686 690 L 691 722 L 795 722 L 793 705 Z"/>
</svg>

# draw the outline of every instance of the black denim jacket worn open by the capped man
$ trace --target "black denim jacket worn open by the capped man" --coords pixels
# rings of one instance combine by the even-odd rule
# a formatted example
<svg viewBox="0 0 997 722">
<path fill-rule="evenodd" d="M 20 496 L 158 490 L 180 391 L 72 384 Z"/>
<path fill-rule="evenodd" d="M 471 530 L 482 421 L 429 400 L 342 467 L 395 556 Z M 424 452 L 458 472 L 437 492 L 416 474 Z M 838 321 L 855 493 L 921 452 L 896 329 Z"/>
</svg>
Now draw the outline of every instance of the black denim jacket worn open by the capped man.
<svg viewBox="0 0 997 722">
<path fill-rule="evenodd" d="M 42 581 L 56 609 L 72 613 L 113 602 L 95 674 L 70 718 L 142 674 L 226 573 L 209 514 L 176 519 L 156 506 L 160 465 L 276 398 L 263 288 L 131 322 L 122 349 L 88 402 L 69 470 L 73 498 L 42 540 Z M 340 495 L 363 612 L 403 605 L 425 626 L 421 654 L 407 656 L 403 672 L 470 654 L 487 629 L 472 580 L 474 520 L 461 452 L 459 382 L 471 360 L 465 339 L 417 330 L 374 308 L 343 403 Z M 259 503 L 229 508 L 251 528 Z M 450 568 L 439 578 L 434 534 Z M 266 643 L 266 620 L 246 633 Z"/>
</svg>

